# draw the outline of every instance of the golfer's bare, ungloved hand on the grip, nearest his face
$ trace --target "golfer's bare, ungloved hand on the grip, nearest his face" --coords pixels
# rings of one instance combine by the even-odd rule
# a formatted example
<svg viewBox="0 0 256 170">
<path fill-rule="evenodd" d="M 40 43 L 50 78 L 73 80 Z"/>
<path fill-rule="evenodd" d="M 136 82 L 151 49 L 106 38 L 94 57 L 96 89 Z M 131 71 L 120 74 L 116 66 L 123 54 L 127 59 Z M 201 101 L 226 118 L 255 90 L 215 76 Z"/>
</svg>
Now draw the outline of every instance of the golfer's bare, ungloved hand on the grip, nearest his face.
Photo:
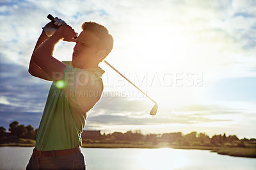
<svg viewBox="0 0 256 170">
<path fill-rule="evenodd" d="M 66 42 L 76 42 L 77 33 L 72 27 L 65 25 L 61 26 L 57 31 L 56 35 L 60 35 L 63 38 L 63 41 Z"/>
</svg>

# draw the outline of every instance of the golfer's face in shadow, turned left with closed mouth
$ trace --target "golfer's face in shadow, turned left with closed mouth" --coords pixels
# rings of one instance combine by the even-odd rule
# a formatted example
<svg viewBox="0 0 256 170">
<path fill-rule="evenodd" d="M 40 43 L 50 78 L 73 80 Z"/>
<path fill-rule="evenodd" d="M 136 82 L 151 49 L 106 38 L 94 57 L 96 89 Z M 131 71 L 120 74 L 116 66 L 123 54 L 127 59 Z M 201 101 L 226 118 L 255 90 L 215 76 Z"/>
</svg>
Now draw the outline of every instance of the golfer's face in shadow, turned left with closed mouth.
<svg viewBox="0 0 256 170">
<path fill-rule="evenodd" d="M 76 38 L 72 66 L 83 69 L 97 60 L 97 41 L 99 38 L 92 31 L 82 31 Z"/>
</svg>

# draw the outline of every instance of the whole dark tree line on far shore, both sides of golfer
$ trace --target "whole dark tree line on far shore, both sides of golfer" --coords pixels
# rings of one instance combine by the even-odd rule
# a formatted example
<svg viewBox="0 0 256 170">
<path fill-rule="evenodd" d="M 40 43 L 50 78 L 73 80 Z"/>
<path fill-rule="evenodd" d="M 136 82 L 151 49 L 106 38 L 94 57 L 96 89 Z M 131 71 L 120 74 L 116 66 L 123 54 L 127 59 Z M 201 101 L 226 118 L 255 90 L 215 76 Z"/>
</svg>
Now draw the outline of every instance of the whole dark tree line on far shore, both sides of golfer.
<svg viewBox="0 0 256 170">
<path fill-rule="evenodd" d="M 19 125 L 18 121 L 13 121 L 9 125 L 10 135 L 16 136 L 18 138 L 24 139 L 34 139 L 36 138 L 37 128 L 34 129 L 31 125 L 25 127 L 25 125 Z M 2 138 L 6 135 L 6 129 L 4 127 L 0 127 L 0 137 Z M 82 135 L 83 136 L 83 135 Z M 223 144 L 223 143 L 234 143 L 236 141 L 240 141 L 236 135 L 228 135 L 224 133 L 223 135 L 213 135 L 209 137 L 209 135 L 205 133 L 197 133 L 191 132 L 189 134 L 182 134 L 182 132 L 173 132 L 173 133 L 165 133 L 165 134 L 141 134 L 140 130 L 129 130 L 125 133 L 122 132 L 113 132 L 111 134 L 100 134 L 89 136 L 85 135 L 83 137 L 83 142 L 85 143 L 93 143 L 95 140 L 103 140 L 108 141 L 125 141 L 127 142 L 140 142 L 140 141 L 149 141 L 152 144 L 157 144 L 159 142 L 167 142 L 167 143 L 175 143 L 179 146 L 189 146 L 189 143 L 211 143 L 213 145 Z M 256 139 L 241 139 L 241 141 L 255 141 Z M 243 145 L 243 143 L 241 143 Z"/>
</svg>

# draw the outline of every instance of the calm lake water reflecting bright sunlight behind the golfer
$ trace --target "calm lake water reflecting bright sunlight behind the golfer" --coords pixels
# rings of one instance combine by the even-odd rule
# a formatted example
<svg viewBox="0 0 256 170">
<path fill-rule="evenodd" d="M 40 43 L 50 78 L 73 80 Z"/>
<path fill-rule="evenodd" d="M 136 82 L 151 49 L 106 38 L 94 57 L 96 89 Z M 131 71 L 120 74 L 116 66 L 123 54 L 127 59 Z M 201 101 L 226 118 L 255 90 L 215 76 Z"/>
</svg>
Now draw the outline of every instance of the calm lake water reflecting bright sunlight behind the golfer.
<svg viewBox="0 0 256 170">
<path fill-rule="evenodd" d="M 33 148 L 0 147 L 0 169 L 26 169 Z M 93 169 L 255 169 L 256 158 L 230 157 L 206 150 L 82 148 Z"/>
</svg>

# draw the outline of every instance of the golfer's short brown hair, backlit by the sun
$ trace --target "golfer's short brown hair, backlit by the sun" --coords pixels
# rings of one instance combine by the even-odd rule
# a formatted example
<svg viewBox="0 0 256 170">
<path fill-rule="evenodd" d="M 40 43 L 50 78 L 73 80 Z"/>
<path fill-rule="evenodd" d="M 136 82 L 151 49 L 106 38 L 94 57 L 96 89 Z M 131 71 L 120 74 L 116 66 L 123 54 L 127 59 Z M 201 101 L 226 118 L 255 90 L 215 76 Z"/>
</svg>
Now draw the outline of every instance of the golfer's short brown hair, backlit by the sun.
<svg viewBox="0 0 256 170">
<path fill-rule="evenodd" d="M 84 31 L 92 31 L 100 40 L 97 42 L 97 47 L 99 50 L 106 50 L 106 56 L 108 56 L 109 52 L 113 49 L 113 36 L 109 34 L 109 31 L 106 27 L 97 24 L 96 22 L 84 22 L 82 25 L 82 29 Z M 102 61 L 104 60 L 102 59 Z"/>
</svg>

